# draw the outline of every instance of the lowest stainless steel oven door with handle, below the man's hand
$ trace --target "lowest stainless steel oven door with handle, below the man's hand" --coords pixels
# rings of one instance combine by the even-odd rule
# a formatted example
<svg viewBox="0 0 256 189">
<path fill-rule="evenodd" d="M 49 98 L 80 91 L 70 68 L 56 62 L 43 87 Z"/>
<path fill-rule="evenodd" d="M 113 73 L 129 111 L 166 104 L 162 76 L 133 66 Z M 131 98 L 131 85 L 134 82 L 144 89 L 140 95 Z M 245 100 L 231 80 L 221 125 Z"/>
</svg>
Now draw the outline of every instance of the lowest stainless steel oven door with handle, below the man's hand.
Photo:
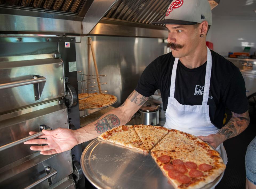
<svg viewBox="0 0 256 189">
<path fill-rule="evenodd" d="M 6 166 L 0 177 L 1 188 L 49 188 L 73 172 L 70 151 L 50 156 L 37 152 L 26 159 L 21 164 Z"/>
</svg>

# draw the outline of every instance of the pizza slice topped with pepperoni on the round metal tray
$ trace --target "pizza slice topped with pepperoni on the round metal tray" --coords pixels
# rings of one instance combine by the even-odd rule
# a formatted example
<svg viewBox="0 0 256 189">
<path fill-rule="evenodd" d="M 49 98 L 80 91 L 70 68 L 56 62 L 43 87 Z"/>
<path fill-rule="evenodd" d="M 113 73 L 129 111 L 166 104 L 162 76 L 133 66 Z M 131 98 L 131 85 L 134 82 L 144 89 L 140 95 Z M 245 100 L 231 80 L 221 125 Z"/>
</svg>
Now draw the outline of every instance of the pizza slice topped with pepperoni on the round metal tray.
<svg viewBox="0 0 256 189">
<path fill-rule="evenodd" d="M 180 150 L 181 149 L 177 149 Z M 183 150 L 184 153 L 184 150 Z M 209 159 L 194 161 L 194 157 L 177 151 L 153 151 L 152 157 L 175 188 L 197 189 L 213 182 L 224 170 L 224 164 Z"/>
</svg>

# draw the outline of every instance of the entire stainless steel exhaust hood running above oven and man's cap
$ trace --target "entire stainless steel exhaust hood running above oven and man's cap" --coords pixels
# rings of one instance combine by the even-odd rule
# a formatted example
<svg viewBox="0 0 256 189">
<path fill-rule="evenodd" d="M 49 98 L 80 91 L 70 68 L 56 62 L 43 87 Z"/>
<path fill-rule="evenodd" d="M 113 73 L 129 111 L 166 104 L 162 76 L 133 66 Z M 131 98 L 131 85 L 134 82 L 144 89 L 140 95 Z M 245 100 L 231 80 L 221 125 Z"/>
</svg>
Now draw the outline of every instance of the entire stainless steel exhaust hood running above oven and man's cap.
<svg viewBox="0 0 256 189">
<path fill-rule="evenodd" d="M 220 0 L 208 1 L 214 8 Z M 151 23 L 165 18 L 171 2 L 0 0 L 0 32 L 166 38 L 165 27 Z"/>
</svg>

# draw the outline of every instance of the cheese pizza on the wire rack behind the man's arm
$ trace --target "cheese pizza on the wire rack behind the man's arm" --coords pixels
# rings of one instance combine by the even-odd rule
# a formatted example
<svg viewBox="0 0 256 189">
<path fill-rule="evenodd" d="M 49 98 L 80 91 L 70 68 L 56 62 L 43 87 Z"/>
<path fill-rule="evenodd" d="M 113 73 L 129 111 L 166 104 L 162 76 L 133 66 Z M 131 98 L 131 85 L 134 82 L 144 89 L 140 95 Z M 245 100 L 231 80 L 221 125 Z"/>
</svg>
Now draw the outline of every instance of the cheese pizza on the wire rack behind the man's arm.
<svg viewBox="0 0 256 189">
<path fill-rule="evenodd" d="M 79 98 L 79 110 L 101 108 L 101 107 L 113 104 L 114 102 L 117 101 L 116 96 L 104 94 L 104 93 L 101 93 L 101 94 L 81 93 L 81 94 L 78 94 L 78 98 Z"/>
</svg>

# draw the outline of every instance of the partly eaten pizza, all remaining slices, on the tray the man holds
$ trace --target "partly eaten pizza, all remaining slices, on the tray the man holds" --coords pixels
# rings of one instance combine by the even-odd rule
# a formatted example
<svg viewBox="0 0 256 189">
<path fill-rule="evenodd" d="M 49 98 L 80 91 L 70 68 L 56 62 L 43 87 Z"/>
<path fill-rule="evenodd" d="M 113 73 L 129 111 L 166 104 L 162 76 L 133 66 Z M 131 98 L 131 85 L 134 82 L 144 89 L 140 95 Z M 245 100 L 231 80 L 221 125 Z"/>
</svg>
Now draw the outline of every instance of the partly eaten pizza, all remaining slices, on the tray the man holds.
<svg viewBox="0 0 256 189">
<path fill-rule="evenodd" d="M 99 138 L 149 152 L 176 189 L 198 189 L 213 182 L 226 166 L 220 154 L 196 136 L 151 125 L 119 126 Z"/>
</svg>

